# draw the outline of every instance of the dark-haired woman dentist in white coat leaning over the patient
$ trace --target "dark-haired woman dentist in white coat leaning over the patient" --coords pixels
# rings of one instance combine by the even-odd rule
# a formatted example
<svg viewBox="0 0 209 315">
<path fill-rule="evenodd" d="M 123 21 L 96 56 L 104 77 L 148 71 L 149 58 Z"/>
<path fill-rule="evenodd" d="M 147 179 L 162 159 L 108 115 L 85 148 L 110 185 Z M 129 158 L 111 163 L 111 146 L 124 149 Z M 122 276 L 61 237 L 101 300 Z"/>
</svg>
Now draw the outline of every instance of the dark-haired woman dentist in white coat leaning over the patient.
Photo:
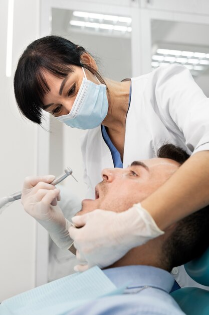
<svg viewBox="0 0 209 315">
<path fill-rule="evenodd" d="M 95 197 L 94 187 L 104 168 L 127 167 L 135 160 L 154 157 L 166 142 L 191 154 L 141 204 L 116 215 L 95 210 L 72 218 L 76 226 L 83 226 L 69 230 L 81 262 L 77 270 L 109 266 L 131 248 L 209 204 L 209 100 L 184 66 L 160 66 L 115 82 L 102 78 L 83 47 L 47 36 L 24 51 L 14 87 L 21 112 L 33 122 L 41 124 L 45 110 L 68 126 L 89 129 L 82 144 L 89 198 Z M 134 180 L 140 174 L 130 176 Z M 38 181 L 24 188 L 28 191 L 22 198 L 26 210 L 30 189 Z M 35 210 L 32 215 L 36 217 Z"/>
</svg>

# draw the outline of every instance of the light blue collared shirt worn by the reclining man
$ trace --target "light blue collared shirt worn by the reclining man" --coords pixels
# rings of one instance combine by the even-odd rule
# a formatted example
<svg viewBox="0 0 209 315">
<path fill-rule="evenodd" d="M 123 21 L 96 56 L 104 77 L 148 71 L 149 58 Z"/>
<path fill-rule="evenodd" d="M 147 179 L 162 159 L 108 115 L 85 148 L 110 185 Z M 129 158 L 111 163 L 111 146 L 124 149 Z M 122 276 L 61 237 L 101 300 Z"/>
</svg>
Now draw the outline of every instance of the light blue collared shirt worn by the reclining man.
<svg viewBox="0 0 209 315">
<path fill-rule="evenodd" d="M 174 283 L 169 272 L 151 266 L 125 266 L 103 272 L 117 287 L 129 283 L 125 293 L 98 298 L 69 315 L 184 314 L 169 294 Z"/>
</svg>

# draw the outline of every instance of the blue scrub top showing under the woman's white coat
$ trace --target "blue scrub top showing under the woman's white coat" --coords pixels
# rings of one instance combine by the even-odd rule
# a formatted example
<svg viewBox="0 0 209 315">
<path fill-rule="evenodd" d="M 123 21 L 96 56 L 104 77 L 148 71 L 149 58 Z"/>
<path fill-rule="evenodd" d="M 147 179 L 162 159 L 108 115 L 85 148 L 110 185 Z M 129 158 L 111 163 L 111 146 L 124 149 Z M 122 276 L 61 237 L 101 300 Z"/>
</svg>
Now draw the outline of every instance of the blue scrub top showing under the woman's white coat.
<svg viewBox="0 0 209 315">
<path fill-rule="evenodd" d="M 129 93 L 128 110 L 129 110 L 130 103 L 131 103 L 131 86 L 130 86 L 130 93 Z M 127 111 L 127 113 L 128 113 L 128 111 Z M 116 147 L 112 143 L 112 141 L 111 141 L 111 139 L 107 133 L 106 127 L 101 125 L 101 130 L 102 130 L 103 139 L 104 139 L 105 143 L 107 144 L 107 146 L 109 147 L 110 152 L 112 154 L 112 160 L 113 160 L 114 168 L 122 169 L 123 163 L 121 161 L 120 153 L 118 152 L 118 150 L 116 149 Z"/>
</svg>

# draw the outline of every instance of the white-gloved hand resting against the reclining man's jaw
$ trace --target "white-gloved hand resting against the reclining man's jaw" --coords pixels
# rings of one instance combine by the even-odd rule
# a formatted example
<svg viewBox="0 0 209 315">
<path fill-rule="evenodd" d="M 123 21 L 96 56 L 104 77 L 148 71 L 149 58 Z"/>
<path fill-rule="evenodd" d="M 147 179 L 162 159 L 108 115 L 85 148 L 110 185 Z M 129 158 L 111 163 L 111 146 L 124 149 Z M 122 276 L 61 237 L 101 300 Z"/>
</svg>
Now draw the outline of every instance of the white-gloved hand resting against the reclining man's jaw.
<svg viewBox="0 0 209 315">
<path fill-rule="evenodd" d="M 94 265 L 110 266 L 130 249 L 164 233 L 140 203 L 120 213 L 94 210 L 74 216 L 72 222 L 77 227 L 83 226 L 69 229 L 76 257 L 81 262 L 75 271 L 85 271 Z"/>
</svg>

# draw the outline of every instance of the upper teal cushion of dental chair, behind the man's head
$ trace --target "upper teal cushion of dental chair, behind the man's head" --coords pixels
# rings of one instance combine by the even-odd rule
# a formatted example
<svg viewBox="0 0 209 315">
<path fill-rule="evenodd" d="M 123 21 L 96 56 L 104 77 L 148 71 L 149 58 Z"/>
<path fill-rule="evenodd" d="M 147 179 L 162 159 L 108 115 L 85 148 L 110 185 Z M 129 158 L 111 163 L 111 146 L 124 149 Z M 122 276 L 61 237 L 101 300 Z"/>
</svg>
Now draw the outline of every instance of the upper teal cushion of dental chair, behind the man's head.
<svg viewBox="0 0 209 315">
<path fill-rule="evenodd" d="M 203 255 L 185 264 L 184 268 L 194 281 L 209 286 L 209 248 Z"/>
</svg>

